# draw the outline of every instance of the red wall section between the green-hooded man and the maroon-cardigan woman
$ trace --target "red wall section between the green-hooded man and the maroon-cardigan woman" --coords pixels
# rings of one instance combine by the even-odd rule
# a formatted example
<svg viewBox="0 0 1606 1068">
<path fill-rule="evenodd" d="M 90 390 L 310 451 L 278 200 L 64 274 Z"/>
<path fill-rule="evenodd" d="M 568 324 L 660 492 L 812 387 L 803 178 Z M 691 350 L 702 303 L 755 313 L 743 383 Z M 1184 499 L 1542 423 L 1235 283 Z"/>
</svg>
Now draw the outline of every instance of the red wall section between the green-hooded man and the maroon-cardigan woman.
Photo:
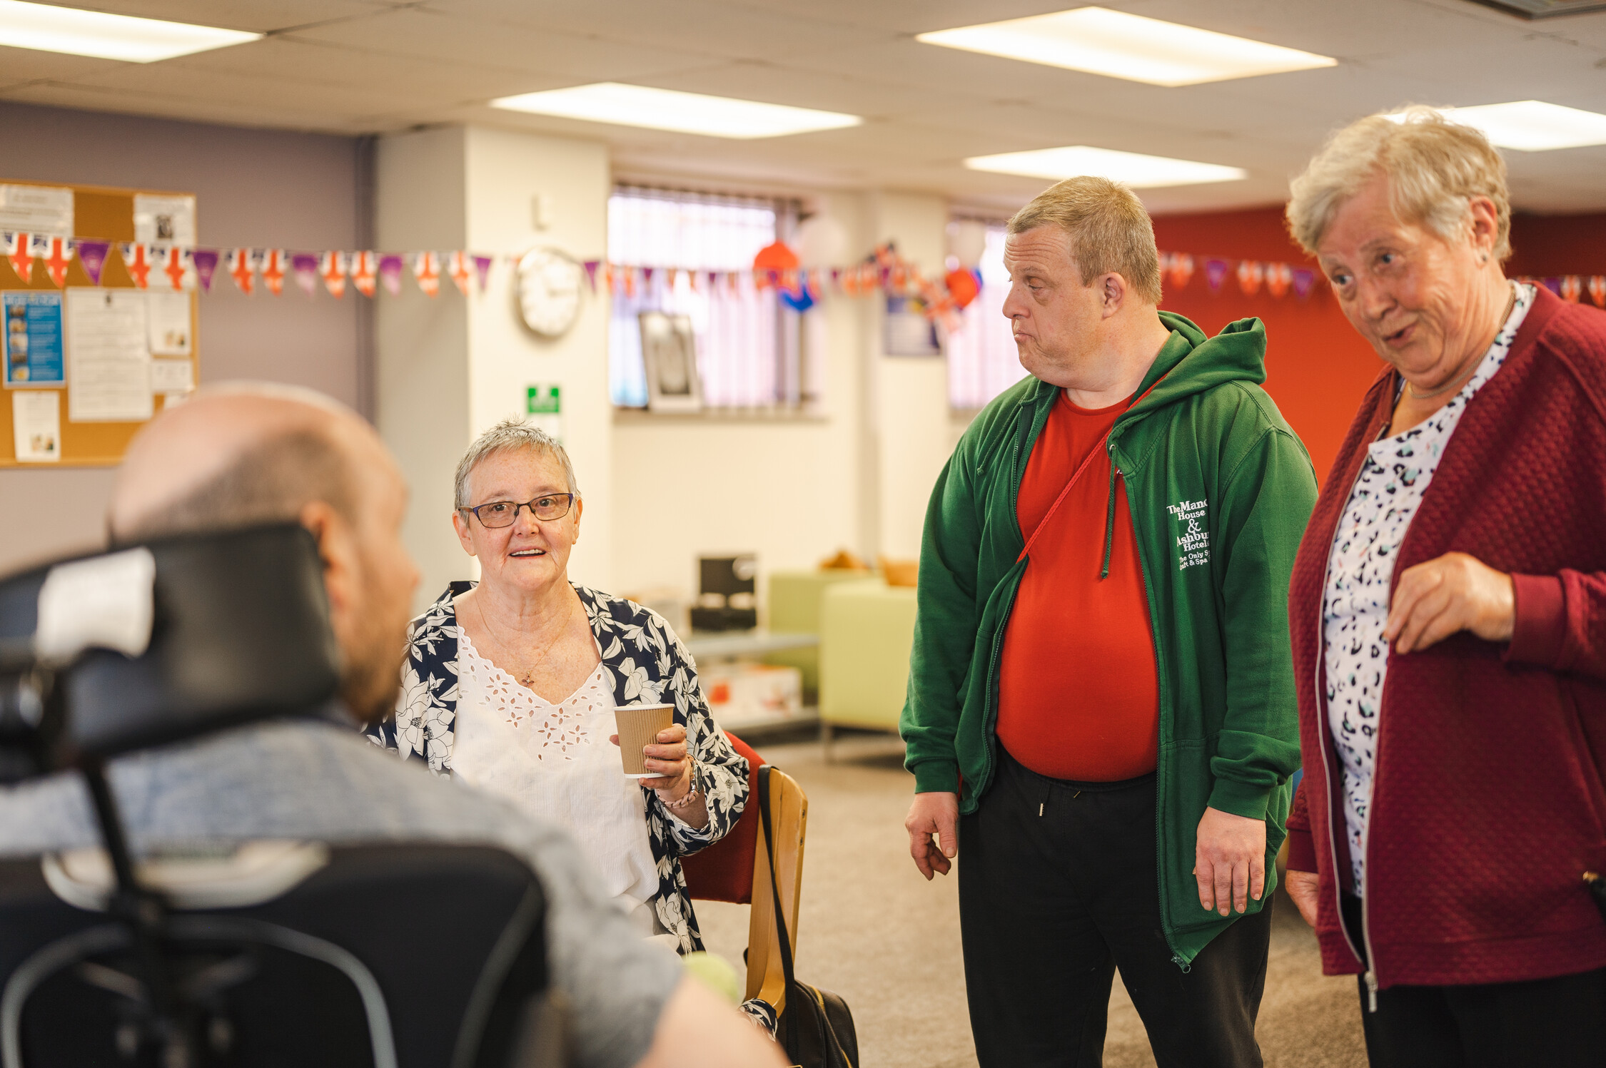
<svg viewBox="0 0 1606 1068">
<path fill-rule="evenodd" d="M 1237 276 L 1229 276 L 1213 294 L 1204 281 L 1203 260 L 1209 255 L 1314 268 L 1288 238 L 1283 209 L 1158 215 L 1155 241 L 1163 252 L 1193 255 L 1193 278 L 1182 289 L 1168 283 L 1161 308 L 1188 316 L 1206 334 L 1251 315 L 1266 323 L 1266 390 L 1304 440 L 1317 479 L 1325 480 L 1360 397 L 1383 361 L 1339 312 L 1320 276 L 1304 300 L 1291 291 L 1272 297 L 1264 286 L 1246 297 Z"/>
</svg>

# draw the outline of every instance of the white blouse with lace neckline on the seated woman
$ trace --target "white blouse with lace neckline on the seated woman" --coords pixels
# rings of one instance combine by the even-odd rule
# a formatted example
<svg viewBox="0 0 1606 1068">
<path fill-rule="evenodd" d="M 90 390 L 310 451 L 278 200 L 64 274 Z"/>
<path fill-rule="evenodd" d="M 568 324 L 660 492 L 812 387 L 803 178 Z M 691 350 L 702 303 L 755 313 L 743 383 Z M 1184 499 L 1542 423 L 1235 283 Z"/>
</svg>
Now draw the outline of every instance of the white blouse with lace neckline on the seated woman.
<svg viewBox="0 0 1606 1068">
<path fill-rule="evenodd" d="M 641 785 L 623 776 L 618 747 L 609 742 L 617 729 L 604 665 L 552 703 L 480 655 L 459 628 L 458 686 L 453 771 L 536 819 L 567 827 L 607 893 L 639 920 L 642 935 L 652 935 L 646 903 L 658 891 L 658 867 Z"/>
</svg>

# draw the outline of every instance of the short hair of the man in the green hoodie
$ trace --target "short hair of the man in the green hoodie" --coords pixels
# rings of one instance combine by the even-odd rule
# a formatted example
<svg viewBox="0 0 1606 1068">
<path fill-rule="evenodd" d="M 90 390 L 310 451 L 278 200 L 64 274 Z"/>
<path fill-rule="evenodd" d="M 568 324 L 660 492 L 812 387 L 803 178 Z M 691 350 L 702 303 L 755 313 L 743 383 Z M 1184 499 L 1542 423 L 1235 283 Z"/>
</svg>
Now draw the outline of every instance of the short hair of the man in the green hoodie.
<svg viewBox="0 0 1606 1068">
<path fill-rule="evenodd" d="M 1160 304 L 1155 223 L 1124 185 L 1090 175 L 1050 185 L 1009 220 L 1010 233 L 1037 226 L 1058 226 L 1071 236 L 1071 259 L 1084 286 L 1100 275 L 1119 275 L 1145 302 Z"/>
</svg>

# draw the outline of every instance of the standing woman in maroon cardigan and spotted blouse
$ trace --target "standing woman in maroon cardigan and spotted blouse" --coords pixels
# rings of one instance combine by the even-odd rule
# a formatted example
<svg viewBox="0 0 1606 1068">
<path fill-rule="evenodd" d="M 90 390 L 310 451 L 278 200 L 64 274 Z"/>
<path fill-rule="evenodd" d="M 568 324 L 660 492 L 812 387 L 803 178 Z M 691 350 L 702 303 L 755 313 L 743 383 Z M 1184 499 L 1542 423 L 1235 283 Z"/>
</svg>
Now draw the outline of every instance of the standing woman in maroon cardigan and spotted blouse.
<svg viewBox="0 0 1606 1068">
<path fill-rule="evenodd" d="M 1505 278 L 1505 165 L 1426 109 L 1288 220 L 1388 365 L 1290 586 L 1288 893 L 1373 1065 L 1606 1063 L 1606 313 Z"/>
</svg>

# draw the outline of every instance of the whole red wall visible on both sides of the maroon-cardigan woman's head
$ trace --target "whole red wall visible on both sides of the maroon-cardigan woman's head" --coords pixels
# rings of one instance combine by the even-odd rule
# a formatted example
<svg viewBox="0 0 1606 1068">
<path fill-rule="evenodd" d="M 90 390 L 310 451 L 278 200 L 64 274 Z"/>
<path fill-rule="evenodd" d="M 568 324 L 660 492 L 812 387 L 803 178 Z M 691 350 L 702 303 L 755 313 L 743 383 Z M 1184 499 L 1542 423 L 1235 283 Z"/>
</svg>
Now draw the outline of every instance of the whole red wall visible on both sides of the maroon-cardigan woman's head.
<svg viewBox="0 0 1606 1068">
<path fill-rule="evenodd" d="M 1158 215 L 1155 239 L 1163 252 L 1195 259 L 1185 287 L 1166 286 L 1164 310 L 1188 316 L 1208 334 L 1249 315 L 1266 323 L 1266 390 L 1310 450 L 1317 479 L 1325 480 L 1383 361 L 1360 340 L 1320 276 L 1306 300 L 1293 292 L 1277 299 L 1264 287 L 1246 297 L 1235 276 L 1217 294 L 1204 283 L 1203 259 L 1209 255 L 1314 268 L 1288 238 L 1283 209 Z M 1511 247 L 1506 273 L 1513 276 L 1606 275 L 1606 215 L 1514 215 Z"/>
</svg>

